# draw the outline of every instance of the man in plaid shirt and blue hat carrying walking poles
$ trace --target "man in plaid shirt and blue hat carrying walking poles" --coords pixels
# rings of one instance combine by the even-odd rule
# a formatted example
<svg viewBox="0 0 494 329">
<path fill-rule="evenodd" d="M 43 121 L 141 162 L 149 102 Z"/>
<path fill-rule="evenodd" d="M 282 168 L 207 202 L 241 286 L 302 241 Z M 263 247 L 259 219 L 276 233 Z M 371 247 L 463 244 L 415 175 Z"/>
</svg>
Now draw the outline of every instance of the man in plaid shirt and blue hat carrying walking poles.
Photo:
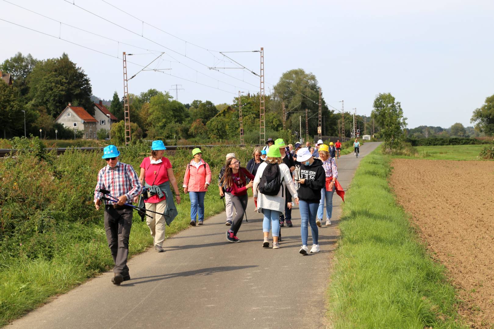
<svg viewBox="0 0 494 329">
<path fill-rule="evenodd" d="M 127 267 L 128 237 L 132 226 L 132 208 L 124 206 L 131 203 L 132 199 L 142 191 L 142 184 L 131 165 L 119 161 L 120 152 L 114 145 L 103 149 L 102 158 L 107 165 L 98 173 L 98 183 L 94 189 L 94 205 L 99 210 L 101 197 L 98 188 L 110 191 L 110 194 L 118 197 L 118 202 L 105 200 L 105 231 L 108 246 L 115 262 L 112 278 L 114 285 L 120 285 L 122 281 L 130 280 Z"/>
</svg>

